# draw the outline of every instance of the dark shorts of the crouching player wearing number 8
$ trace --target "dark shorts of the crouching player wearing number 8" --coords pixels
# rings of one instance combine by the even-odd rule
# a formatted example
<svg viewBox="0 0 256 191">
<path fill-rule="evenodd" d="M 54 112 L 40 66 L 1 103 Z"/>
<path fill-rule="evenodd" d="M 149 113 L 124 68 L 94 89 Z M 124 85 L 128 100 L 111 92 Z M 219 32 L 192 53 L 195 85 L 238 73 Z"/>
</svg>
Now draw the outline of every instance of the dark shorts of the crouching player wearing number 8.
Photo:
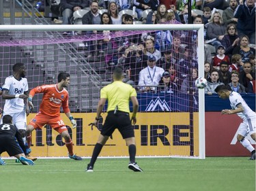
<svg viewBox="0 0 256 191">
<path fill-rule="evenodd" d="M 8 152 L 9 156 L 14 156 L 16 154 L 22 154 L 23 150 L 21 149 L 18 141 L 15 137 L 12 136 L 0 136 L 0 154 L 2 152 Z"/>
</svg>

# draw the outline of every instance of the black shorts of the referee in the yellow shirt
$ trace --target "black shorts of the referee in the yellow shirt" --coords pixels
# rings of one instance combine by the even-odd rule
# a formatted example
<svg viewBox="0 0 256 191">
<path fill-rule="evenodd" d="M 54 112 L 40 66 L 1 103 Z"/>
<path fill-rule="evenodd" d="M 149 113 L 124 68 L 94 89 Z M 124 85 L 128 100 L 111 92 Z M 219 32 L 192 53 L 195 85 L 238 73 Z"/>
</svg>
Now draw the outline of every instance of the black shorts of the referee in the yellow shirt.
<svg viewBox="0 0 256 191">
<path fill-rule="evenodd" d="M 134 128 L 130 122 L 130 116 L 126 112 L 117 111 L 117 114 L 114 114 L 114 111 L 109 111 L 102 126 L 101 135 L 111 136 L 115 128 L 121 133 L 123 139 L 134 137 Z"/>
</svg>

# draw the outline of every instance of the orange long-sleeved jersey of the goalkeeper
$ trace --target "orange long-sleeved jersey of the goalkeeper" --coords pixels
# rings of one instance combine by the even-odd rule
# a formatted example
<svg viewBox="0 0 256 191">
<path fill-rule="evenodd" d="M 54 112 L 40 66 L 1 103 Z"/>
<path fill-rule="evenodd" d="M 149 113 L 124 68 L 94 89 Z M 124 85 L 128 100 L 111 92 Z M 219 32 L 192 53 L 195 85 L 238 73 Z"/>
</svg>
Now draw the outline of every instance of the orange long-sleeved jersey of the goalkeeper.
<svg viewBox="0 0 256 191">
<path fill-rule="evenodd" d="M 43 93 L 42 102 L 40 104 L 40 112 L 48 116 L 60 116 L 60 108 L 62 106 L 63 111 L 66 113 L 70 112 L 68 107 L 68 91 L 57 89 L 57 84 L 43 85 L 33 88 L 29 95 L 32 97 L 35 94 Z"/>
</svg>

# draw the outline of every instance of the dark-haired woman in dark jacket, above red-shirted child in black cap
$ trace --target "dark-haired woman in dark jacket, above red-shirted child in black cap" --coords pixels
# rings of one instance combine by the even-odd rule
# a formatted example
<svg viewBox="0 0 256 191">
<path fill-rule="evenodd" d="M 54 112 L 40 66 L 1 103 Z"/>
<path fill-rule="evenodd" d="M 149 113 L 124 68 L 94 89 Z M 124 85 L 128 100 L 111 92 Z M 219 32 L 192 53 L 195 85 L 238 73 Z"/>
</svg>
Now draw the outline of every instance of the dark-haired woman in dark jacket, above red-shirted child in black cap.
<svg viewBox="0 0 256 191">
<path fill-rule="evenodd" d="M 238 46 L 239 37 L 236 31 L 236 25 L 231 23 L 227 25 L 227 33 L 221 40 L 221 44 L 225 47 L 225 54 L 231 57 L 233 49 Z"/>
</svg>

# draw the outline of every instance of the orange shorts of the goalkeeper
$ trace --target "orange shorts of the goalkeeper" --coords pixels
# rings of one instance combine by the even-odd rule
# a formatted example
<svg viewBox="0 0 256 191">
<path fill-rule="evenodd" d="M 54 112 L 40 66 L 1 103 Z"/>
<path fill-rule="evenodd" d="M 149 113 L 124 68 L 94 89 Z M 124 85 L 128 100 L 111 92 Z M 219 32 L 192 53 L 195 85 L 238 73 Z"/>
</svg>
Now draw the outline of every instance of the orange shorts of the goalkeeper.
<svg viewBox="0 0 256 191">
<path fill-rule="evenodd" d="M 58 133 L 62 133 L 63 131 L 68 131 L 66 125 L 64 124 L 61 116 L 51 117 L 46 114 L 38 113 L 36 116 L 29 122 L 29 125 L 33 126 L 33 128 L 41 128 L 44 125 L 50 125 Z"/>
</svg>

